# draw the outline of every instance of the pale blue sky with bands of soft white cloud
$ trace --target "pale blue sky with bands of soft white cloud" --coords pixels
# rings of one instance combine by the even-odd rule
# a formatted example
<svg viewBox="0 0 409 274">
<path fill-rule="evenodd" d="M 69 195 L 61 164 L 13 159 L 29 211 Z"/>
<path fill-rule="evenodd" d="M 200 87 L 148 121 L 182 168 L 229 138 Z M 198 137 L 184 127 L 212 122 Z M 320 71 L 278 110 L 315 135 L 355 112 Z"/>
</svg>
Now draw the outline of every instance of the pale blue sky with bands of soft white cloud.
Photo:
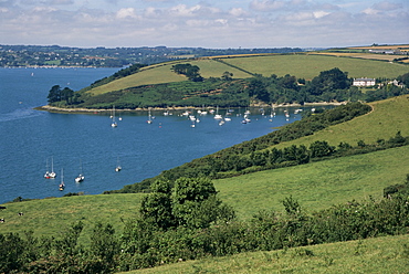
<svg viewBox="0 0 409 274">
<path fill-rule="evenodd" d="M 409 0 L 0 0 L 0 44 L 335 48 L 409 43 Z"/>
</svg>

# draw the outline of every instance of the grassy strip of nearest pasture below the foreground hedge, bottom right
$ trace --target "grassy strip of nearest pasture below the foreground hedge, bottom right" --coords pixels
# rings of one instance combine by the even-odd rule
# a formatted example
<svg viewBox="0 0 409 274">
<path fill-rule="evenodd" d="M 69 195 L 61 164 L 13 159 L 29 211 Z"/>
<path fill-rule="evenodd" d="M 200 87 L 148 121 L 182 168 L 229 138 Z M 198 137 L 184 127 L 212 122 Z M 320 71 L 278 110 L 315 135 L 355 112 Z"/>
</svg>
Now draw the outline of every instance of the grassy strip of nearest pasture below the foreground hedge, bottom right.
<svg viewBox="0 0 409 274">
<path fill-rule="evenodd" d="M 171 273 L 408 273 L 409 235 L 248 252 L 187 261 L 128 274 Z"/>
</svg>

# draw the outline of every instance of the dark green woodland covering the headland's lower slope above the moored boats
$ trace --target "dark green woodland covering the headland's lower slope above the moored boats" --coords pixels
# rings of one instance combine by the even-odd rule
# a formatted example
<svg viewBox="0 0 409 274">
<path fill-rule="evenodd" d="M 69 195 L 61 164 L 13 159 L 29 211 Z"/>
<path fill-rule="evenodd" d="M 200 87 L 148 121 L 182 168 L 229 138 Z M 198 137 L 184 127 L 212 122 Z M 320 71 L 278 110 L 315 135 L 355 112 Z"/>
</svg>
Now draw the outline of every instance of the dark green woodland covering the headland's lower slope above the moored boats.
<svg viewBox="0 0 409 274">
<path fill-rule="evenodd" d="M 252 103 L 292 104 L 311 102 L 373 102 L 402 94 L 408 94 L 409 73 L 397 77 L 401 86 L 388 84 L 388 80 L 378 80 L 378 85 L 365 89 L 352 86 L 353 80 L 347 72 L 337 67 L 323 71 L 312 81 L 285 75 L 270 77 L 255 75 L 251 78 L 234 80 L 224 72 L 220 77 L 203 78 L 200 68 L 190 64 L 171 67 L 177 74 L 187 76 L 187 81 L 129 87 L 101 95 L 91 95 L 86 91 L 119 77 L 137 73 L 143 65 L 133 65 L 114 75 L 96 81 L 88 88 L 73 92 L 69 87 L 53 86 L 49 92 L 49 103 L 60 107 L 134 109 L 147 107 L 248 107 Z M 386 83 L 386 84 L 385 84 Z M 65 94 L 70 92 L 69 96 Z"/>
</svg>

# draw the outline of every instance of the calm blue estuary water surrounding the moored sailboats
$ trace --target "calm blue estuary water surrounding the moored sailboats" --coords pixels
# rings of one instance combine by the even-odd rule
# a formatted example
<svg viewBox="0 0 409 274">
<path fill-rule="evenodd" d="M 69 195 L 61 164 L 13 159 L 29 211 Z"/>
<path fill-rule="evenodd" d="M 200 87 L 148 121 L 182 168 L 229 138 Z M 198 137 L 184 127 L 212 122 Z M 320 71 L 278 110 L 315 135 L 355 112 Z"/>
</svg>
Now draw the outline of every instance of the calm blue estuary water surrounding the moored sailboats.
<svg viewBox="0 0 409 274">
<path fill-rule="evenodd" d="M 270 109 L 263 116 L 252 109 L 249 124 L 241 124 L 235 109 L 231 122 L 223 126 L 212 115 L 191 122 L 180 113 L 164 116 L 153 113 L 117 113 L 117 128 L 111 127 L 108 114 L 52 114 L 34 110 L 45 105 L 51 86 L 59 84 L 77 91 L 94 81 L 108 76 L 117 68 L 0 68 L 0 203 L 17 197 L 61 197 L 67 192 L 86 194 L 120 189 L 125 185 L 154 177 L 160 171 L 212 154 L 234 144 L 271 133 L 277 127 L 301 118 L 290 108 L 286 120 L 284 109 Z M 220 109 L 226 114 L 226 109 Z M 46 161 L 51 169 L 53 157 L 57 178 L 46 180 L 43 175 Z M 115 172 L 119 159 L 123 170 Z M 81 165 L 82 162 L 82 165 Z M 75 183 L 82 166 L 85 181 Z M 59 191 L 61 169 L 65 190 Z"/>
</svg>

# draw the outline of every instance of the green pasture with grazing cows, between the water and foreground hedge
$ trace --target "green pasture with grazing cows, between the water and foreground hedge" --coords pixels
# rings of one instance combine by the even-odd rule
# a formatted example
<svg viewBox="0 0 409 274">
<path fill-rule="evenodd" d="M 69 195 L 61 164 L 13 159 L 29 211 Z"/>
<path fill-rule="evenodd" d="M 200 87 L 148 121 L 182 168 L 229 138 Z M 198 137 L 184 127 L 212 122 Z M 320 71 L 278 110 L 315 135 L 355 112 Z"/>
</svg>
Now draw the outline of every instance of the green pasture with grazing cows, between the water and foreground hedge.
<svg viewBox="0 0 409 274">
<path fill-rule="evenodd" d="M 6 203 L 2 205 L 7 209 L 0 210 L 0 218 L 6 221 L 0 224 L 1 233 L 32 230 L 35 236 L 60 236 L 73 223 L 82 221 L 85 226 L 81 242 L 86 243 L 96 222 L 111 223 L 122 231 L 123 220 L 136 217 L 143 196 L 73 196 Z"/>
</svg>

